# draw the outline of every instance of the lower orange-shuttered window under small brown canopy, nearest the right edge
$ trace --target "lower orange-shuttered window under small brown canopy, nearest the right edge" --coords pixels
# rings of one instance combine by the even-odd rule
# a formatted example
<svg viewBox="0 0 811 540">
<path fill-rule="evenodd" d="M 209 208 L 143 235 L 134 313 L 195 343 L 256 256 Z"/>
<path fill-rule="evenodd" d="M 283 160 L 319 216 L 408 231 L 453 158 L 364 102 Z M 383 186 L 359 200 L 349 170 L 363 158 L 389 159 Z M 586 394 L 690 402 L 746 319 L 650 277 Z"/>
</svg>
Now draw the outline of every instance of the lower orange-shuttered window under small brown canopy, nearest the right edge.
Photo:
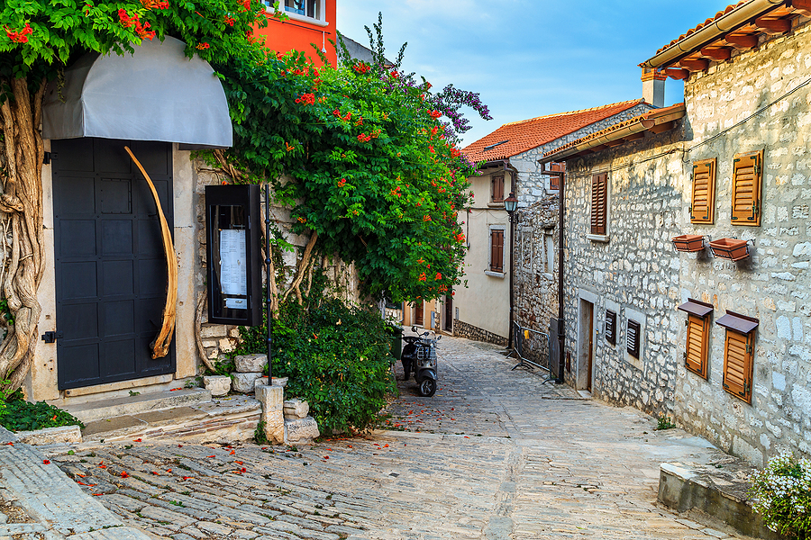
<svg viewBox="0 0 811 540">
<path fill-rule="evenodd" d="M 726 311 L 717 321 L 726 329 L 724 338 L 724 390 L 739 400 L 752 403 L 754 374 L 754 330 L 760 321 Z"/>
</svg>

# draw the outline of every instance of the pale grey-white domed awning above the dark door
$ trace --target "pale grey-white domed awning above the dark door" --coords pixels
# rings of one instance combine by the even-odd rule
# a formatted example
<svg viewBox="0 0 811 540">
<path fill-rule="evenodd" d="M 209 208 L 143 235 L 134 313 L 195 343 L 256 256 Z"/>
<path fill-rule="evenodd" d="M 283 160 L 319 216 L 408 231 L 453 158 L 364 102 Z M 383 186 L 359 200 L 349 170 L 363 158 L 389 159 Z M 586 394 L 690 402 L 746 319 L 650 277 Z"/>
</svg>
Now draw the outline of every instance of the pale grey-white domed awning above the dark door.
<svg viewBox="0 0 811 540">
<path fill-rule="evenodd" d="M 185 148 L 232 146 L 228 102 L 214 69 L 183 41 L 144 40 L 134 54 L 88 53 L 45 93 L 45 139 L 159 140 Z"/>
</svg>

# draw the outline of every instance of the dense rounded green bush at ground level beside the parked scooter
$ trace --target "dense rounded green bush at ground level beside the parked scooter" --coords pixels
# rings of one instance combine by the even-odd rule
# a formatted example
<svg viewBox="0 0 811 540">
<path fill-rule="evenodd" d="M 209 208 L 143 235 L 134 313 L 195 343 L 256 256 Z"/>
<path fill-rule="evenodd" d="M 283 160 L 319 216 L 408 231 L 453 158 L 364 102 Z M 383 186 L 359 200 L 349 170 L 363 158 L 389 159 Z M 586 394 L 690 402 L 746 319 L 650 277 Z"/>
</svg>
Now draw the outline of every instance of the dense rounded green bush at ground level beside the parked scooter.
<svg viewBox="0 0 811 540">
<path fill-rule="evenodd" d="M 266 328 L 242 328 L 236 354 L 266 352 Z M 363 430 L 396 389 L 390 340 L 379 311 L 326 298 L 308 309 L 288 302 L 273 324 L 273 376 L 289 377 L 287 396 L 309 403 L 323 433 Z"/>
</svg>

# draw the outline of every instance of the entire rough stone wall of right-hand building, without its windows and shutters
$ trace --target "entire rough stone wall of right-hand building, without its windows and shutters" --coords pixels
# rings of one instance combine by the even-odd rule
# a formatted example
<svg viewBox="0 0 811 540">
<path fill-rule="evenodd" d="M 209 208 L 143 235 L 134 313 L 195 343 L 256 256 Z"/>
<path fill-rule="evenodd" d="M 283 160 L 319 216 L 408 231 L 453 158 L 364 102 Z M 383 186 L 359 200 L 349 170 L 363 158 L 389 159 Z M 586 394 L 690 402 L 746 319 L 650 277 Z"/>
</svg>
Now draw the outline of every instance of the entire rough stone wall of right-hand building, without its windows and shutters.
<svg viewBox="0 0 811 540">
<path fill-rule="evenodd" d="M 594 343 L 595 394 L 667 414 L 726 452 L 762 465 L 788 449 L 811 454 L 811 32 L 808 24 L 736 53 L 685 85 L 683 128 L 570 161 L 567 181 L 566 318 L 570 382 L 582 388 L 582 356 Z M 732 224 L 734 156 L 764 150 L 761 226 Z M 715 222 L 690 222 L 690 173 L 715 158 Z M 590 176 L 609 176 L 606 242 L 587 237 Z M 672 250 L 670 238 L 752 240 L 733 263 L 708 250 Z M 688 298 L 711 303 L 708 377 L 684 367 Z M 595 306 L 594 332 L 584 313 Z M 606 344 L 605 310 L 618 314 Z M 760 320 L 753 347 L 752 404 L 724 391 L 727 311 Z M 632 311 L 636 311 L 634 314 Z M 639 360 L 624 352 L 628 317 L 643 321 Z"/>
</svg>

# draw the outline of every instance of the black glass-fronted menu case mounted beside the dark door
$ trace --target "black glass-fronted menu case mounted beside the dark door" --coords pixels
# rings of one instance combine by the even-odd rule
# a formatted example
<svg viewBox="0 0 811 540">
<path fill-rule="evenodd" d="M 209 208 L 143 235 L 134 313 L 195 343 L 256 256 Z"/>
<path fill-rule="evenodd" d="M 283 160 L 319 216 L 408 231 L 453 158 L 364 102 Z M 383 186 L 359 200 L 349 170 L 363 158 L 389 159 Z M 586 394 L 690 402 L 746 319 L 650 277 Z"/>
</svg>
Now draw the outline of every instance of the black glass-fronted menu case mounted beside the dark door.
<svg viewBox="0 0 811 540">
<path fill-rule="evenodd" d="M 208 320 L 261 324 L 260 189 L 205 187 Z"/>
</svg>

